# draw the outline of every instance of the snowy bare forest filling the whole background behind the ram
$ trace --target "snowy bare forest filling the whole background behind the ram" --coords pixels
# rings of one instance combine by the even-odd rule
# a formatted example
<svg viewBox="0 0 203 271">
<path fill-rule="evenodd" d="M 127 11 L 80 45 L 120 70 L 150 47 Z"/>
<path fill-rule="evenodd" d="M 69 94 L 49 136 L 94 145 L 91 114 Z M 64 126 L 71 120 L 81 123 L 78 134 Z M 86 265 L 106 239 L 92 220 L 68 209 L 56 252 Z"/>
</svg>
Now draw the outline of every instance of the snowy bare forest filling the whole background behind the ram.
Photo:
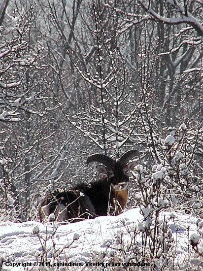
<svg viewBox="0 0 203 271">
<path fill-rule="evenodd" d="M 203 217 L 203 1 L 1 0 L 0 221 L 134 148 L 128 208 Z"/>
</svg>

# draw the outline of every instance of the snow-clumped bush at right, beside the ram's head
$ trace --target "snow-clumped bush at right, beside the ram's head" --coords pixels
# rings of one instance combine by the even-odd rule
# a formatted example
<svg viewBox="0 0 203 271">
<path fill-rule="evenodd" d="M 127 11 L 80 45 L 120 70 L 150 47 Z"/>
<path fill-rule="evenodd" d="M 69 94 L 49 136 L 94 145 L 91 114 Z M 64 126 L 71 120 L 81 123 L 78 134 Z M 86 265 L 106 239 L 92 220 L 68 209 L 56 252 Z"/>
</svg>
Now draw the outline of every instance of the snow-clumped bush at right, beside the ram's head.
<svg viewBox="0 0 203 271">
<path fill-rule="evenodd" d="M 130 200 L 140 207 L 144 216 L 140 227 L 143 229 L 143 251 L 145 256 L 150 254 L 158 270 L 167 267 L 174 256 L 174 240 L 168 228 L 168 219 L 161 219 L 161 212 L 170 209 L 195 212 L 196 215 L 202 213 L 201 129 L 187 130 L 185 125 L 180 127 L 172 128 L 169 135 L 160 135 L 159 139 L 154 137 L 154 142 L 157 142 L 154 148 L 150 142 L 148 150 L 158 163 L 140 159 L 133 172 Z M 146 150 L 143 151 L 143 158 L 147 157 Z M 192 237 L 191 244 L 195 247 L 197 238 Z"/>
</svg>

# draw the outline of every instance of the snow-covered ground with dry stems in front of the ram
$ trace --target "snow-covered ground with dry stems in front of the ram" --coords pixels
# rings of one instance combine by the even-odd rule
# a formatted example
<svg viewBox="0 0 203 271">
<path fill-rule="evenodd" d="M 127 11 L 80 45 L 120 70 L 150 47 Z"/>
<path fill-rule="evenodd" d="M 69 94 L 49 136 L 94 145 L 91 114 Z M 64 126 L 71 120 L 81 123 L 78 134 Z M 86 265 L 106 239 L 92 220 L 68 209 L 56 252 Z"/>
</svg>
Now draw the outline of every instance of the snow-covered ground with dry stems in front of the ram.
<svg viewBox="0 0 203 271">
<path fill-rule="evenodd" d="M 3 222 L 2 269 L 31 270 L 37 263 L 39 270 L 201 270 L 195 249 L 203 252 L 203 221 L 198 225 L 194 216 L 168 211 L 160 212 L 157 219 L 154 227 L 154 219 L 149 222 L 140 208 L 134 208 L 119 216 L 102 216 L 74 225 Z M 154 256 L 150 257 L 152 252 Z"/>
</svg>

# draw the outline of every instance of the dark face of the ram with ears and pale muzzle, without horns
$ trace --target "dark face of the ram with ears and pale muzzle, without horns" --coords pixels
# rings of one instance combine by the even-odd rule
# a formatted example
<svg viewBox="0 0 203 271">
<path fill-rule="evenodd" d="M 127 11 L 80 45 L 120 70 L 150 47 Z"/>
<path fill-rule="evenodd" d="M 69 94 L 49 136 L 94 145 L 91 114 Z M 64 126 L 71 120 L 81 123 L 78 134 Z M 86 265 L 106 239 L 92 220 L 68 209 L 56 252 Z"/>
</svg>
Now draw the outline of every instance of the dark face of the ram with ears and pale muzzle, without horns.
<svg viewBox="0 0 203 271">
<path fill-rule="evenodd" d="M 108 181 L 112 184 L 114 190 L 126 190 L 129 185 L 128 172 L 135 167 L 136 163 L 128 165 L 116 161 L 110 167 L 97 166 L 100 173 L 107 175 Z"/>
</svg>

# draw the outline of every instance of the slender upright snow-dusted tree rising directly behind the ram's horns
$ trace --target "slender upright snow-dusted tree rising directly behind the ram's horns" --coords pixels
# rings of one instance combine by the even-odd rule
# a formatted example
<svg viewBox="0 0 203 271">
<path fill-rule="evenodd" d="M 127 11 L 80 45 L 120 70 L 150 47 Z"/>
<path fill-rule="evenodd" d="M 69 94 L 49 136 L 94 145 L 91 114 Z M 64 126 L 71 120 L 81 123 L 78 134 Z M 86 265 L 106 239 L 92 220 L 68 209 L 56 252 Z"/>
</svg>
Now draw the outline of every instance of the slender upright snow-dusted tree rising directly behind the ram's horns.
<svg viewBox="0 0 203 271">
<path fill-rule="evenodd" d="M 131 119 L 135 118 L 135 112 L 138 111 L 136 104 L 130 102 L 132 85 L 130 71 L 126 69 L 121 52 L 124 41 L 119 33 L 120 24 L 111 9 L 102 2 L 87 1 L 80 5 L 85 11 L 80 12 L 78 19 L 82 29 L 74 29 L 73 32 L 73 23 L 70 23 L 73 17 L 68 13 L 68 4 L 66 6 L 63 2 L 61 7 L 62 14 L 66 14 L 64 24 L 67 28 L 61 26 L 62 15 L 56 13 L 57 3 L 50 3 L 49 8 L 56 31 L 66 48 L 66 58 L 70 60 L 74 78 L 77 73 L 82 79 L 79 84 L 82 102 L 75 116 L 69 107 L 66 117 L 71 125 L 104 153 L 113 147 L 118 155 L 119 149 L 126 142 L 131 142 L 130 137 L 136 126 Z M 68 31 L 69 34 L 66 34 Z"/>
</svg>

